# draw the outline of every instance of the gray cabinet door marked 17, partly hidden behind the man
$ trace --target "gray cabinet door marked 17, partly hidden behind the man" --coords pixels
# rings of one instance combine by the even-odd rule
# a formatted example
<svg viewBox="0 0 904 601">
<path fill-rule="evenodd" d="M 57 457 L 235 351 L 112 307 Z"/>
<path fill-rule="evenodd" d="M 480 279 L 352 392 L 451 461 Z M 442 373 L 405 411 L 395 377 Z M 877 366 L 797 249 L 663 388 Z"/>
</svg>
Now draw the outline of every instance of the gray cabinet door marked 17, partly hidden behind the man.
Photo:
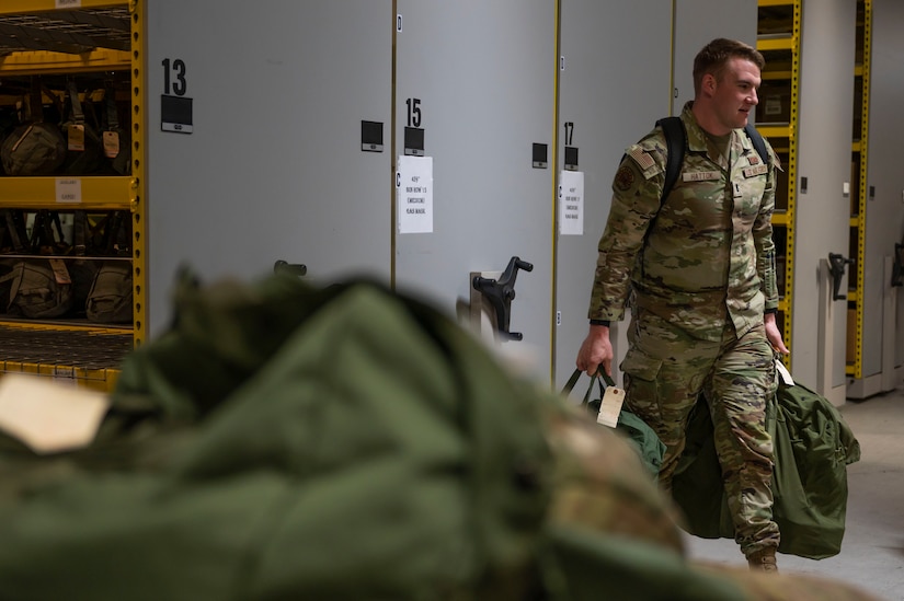
<svg viewBox="0 0 904 601">
<path fill-rule="evenodd" d="M 562 0 L 557 173 L 564 167 L 564 147 L 576 148 L 577 171 L 584 174 L 584 223 L 582 235 L 558 235 L 559 389 L 574 371 L 587 334 L 596 246 L 609 215 L 613 176 L 625 149 L 668 114 L 671 102 L 672 2 L 633 0 L 619 7 L 618 19 L 611 16 L 613 8 L 605 3 Z M 622 331 L 626 326 L 616 324 Z M 617 357 L 627 350 L 620 346 Z"/>
</svg>

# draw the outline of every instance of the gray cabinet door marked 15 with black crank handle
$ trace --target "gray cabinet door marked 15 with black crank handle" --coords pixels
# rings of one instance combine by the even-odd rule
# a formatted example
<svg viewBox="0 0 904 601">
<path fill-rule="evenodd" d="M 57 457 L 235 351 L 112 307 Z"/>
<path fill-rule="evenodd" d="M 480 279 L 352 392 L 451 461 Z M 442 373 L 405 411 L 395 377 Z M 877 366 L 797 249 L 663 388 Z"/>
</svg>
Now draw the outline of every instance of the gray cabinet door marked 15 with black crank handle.
<svg viewBox="0 0 904 601">
<path fill-rule="evenodd" d="M 399 0 L 398 12 L 397 154 L 405 127 L 419 129 L 433 222 L 397 232 L 397 288 L 454 313 L 469 303 L 472 271 L 502 271 L 512 257 L 531 264 L 511 303 L 510 330 L 523 339 L 502 344 L 548 379 L 553 165 L 535 167 L 533 145 L 549 147 L 554 127 L 556 3 Z"/>
</svg>

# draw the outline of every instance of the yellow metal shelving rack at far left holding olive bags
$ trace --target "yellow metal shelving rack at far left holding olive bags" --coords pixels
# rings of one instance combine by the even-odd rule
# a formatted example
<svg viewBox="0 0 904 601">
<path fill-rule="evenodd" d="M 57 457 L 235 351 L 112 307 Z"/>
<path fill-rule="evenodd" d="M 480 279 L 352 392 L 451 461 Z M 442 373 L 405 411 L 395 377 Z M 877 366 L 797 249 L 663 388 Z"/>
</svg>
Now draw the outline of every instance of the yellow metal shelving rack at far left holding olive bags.
<svg viewBox="0 0 904 601">
<path fill-rule="evenodd" d="M 0 207 L 128 210 L 134 321 L 103 327 L 71 321 L 26 322 L 0 315 L 0 372 L 70 379 L 112 390 L 123 356 L 145 337 L 146 252 L 144 192 L 144 0 L 3 0 L 0 3 L 0 78 L 87 72 L 128 73 L 131 173 L 79 176 L 81 199 L 60 204 L 60 178 L 0 177 Z"/>
</svg>

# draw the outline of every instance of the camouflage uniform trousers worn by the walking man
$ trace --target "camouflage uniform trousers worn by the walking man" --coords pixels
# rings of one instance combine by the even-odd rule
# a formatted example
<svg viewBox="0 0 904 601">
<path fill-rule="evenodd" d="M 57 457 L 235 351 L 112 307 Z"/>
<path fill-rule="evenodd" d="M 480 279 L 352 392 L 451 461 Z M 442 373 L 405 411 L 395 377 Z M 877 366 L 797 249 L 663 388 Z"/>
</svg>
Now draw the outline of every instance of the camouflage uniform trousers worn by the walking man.
<svg viewBox="0 0 904 601">
<path fill-rule="evenodd" d="M 716 451 L 735 541 L 744 555 L 777 547 L 773 521 L 773 441 L 766 430 L 766 400 L 775 392 L 775 358 L 759 325 L 735 336 L 725 325 L 720 342 L 694 338 L 667 321 L 639 311 L 628 332 L 621 363 L 625 405 L 666 446 L 660 484 L 671 490 L 685 448 L 690 411 L 702 393 L 713 423 Z"/>
</svg>

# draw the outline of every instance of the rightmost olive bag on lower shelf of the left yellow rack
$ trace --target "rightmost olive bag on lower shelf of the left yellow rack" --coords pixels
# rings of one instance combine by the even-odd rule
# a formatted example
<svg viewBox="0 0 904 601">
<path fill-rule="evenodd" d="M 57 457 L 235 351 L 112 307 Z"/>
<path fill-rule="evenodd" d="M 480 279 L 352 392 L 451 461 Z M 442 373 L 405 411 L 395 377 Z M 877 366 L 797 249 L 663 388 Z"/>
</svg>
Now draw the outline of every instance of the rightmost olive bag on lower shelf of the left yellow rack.
<svg viewBox="0 0 904 601">
<path fill-rule="evenodd" d="M 94 323 L 129 323 L 133 320 L 133 276 L 130 256 L 129 211 L 113 211 L 105 218 L 101 254 L 119 256 L 101 262 L 94 274 L 84 303 L 89 321 Z"/>
</svg>

